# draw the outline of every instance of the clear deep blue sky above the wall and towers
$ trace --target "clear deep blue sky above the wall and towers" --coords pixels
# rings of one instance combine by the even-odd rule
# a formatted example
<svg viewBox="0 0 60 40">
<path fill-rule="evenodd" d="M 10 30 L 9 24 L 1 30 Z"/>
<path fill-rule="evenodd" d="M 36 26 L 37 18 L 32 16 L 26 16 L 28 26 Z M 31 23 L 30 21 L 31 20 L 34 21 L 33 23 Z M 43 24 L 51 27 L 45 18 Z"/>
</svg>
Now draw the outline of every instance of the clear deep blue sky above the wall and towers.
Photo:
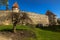
<svg viewBox="0 0 60 40">
<path fill-rule="evenodd" d="M 50 10 L 60 18 L 60 0 L 9 0 L 9 9 L 17 2 L 21 11 L 35 12 L 45 14 Z M 5 6 L 0 6 L 0 10 L 4 10 Z"/>
</svg>

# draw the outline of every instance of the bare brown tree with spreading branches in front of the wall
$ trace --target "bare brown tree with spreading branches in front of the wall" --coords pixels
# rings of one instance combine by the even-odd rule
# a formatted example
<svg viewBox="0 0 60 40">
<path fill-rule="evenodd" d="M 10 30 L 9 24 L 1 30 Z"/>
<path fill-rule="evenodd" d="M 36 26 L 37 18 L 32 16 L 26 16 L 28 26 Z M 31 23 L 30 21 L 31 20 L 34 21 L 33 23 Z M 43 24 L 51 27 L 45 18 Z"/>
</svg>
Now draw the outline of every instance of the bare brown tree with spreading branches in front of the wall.
<svg viewBox="0 0 60 40">
<path fill-rule="evenodd" d="M 21 22 L 21 20 L 22 20 L 22 24 L 24 24 L 24 22 L 27 24 L 28 20 L 30 22 L 32 22 L 32 20 L 28 17 L 27 13 L 21 13 L 21 12 L 15 13 L 15 12 L 13 12 L 11 16 L 12 16 L 13 32 L 14 33 L 16 33 L 16 25 L 19 22 Z"/>
</svg>

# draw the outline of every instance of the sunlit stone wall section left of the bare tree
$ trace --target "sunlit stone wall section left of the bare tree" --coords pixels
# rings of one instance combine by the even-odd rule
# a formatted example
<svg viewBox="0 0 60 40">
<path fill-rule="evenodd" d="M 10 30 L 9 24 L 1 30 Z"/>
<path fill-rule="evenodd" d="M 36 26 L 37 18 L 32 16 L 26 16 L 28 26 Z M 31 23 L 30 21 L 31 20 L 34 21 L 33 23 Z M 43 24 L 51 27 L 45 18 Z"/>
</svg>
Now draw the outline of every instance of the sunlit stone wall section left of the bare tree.
<svg viewBox="0 0 60 40">
<path fill-rule="evenodd" d="M 0 25 L 11 24 L 10 11 L 0 11 Z"/>
</svg>

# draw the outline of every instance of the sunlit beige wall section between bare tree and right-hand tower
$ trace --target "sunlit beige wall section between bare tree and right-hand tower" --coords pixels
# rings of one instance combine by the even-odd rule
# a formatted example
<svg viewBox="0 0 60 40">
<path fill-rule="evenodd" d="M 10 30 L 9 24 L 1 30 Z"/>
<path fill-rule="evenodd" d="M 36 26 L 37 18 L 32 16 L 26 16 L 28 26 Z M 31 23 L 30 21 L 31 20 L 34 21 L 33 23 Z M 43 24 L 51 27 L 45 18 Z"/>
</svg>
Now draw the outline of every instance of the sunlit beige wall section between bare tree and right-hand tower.
<svg viewBox="0 0 60 40">
<path fill-rule="evenodd" d="M 33 21 L 33 24 L 43 24 L 43 25 L 49 24 L 48 16 L 46 15 L 30 13 L 30 12 L 27 12 L 27 14 Z"/>
</svg>

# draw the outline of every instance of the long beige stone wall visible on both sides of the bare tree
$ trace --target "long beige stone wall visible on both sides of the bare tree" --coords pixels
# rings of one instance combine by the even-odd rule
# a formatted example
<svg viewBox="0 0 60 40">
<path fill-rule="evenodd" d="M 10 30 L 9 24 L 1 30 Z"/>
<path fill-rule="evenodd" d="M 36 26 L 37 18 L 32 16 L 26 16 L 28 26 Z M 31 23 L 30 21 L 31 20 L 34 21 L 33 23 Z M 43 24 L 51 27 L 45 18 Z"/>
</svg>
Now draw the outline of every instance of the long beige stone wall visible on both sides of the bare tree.
<svg viewBox="0 0 60 40">
<path fill-rule="evenodd" d="M 26 13 L 28 17 L 32 20 L 32 23 L 29 22 L 30 24 L 43 24 L 43 25 L 49 24 L 48 16 L 46 15 L 31 12 L 23 12 L 23 13 Z M 12 24 L 11 11 L 0 11 L 0 25 L 2 24 L 4 25 Z"/>
</svg>

